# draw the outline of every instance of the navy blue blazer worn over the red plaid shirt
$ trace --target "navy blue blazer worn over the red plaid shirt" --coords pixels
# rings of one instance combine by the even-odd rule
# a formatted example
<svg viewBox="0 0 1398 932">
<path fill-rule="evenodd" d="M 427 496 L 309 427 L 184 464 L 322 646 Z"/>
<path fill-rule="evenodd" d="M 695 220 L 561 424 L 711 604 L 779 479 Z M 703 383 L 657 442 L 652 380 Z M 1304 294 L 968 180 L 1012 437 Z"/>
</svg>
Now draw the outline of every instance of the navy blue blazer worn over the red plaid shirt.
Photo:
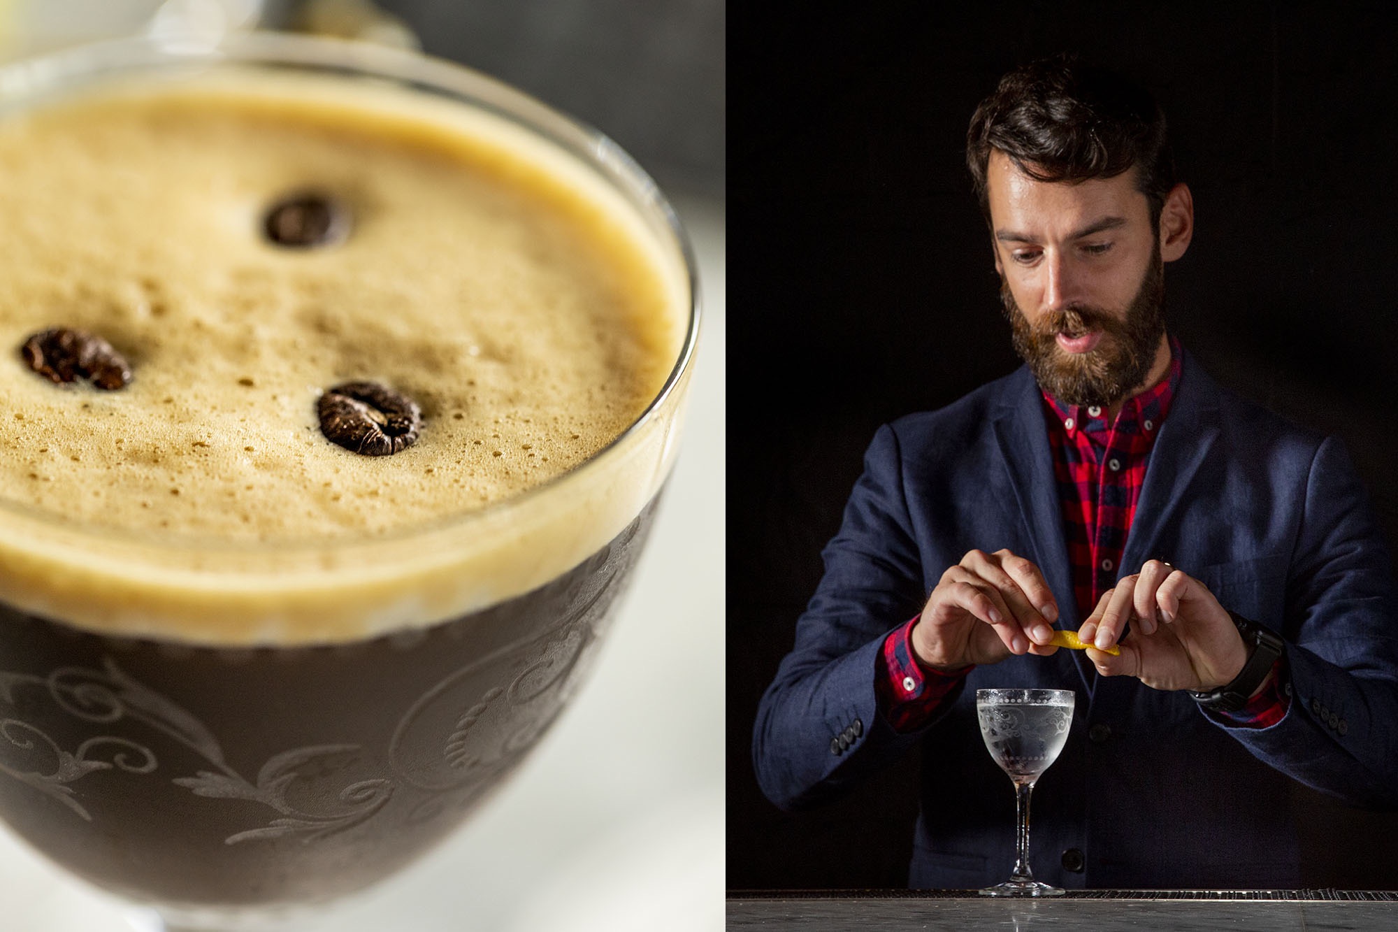
<svg viewBox="0 0 1398 932">
<path fill-rule="evenodd" d="M 998 883 L 1014 862 L 1014 791 L 981 743 L 974 691 L 1014 686 L 1076 691 L 1068 743 L 1035 789 L 1030 866 L 1048 883 L 1296 887 L 1290 781 L 1398 807 L 1398 605 L 1353 466 L 1338 439 L 1223 390 L 1188 354 L 1183 365 L 1118 577 L 1167 560 L 1279 633 L 1286 716 L 1234 728 L 1187 693 L 1099 677 L 1081 651 L 1058 651 L 976 668 L 916 733 L 888 725 L 874 691 L 884 638 L 967 550 L 1029 557 L 1058 627 L 1085 617 L 1039 388 L 1021 368 L 875 435 L 758 712 L 754 763 L 769 799 L 818 803 L 917 747 L 910 884 Z M 1064 866 L 1076 866 L 1071 849 L 1081 870 Z"/>
</svg>

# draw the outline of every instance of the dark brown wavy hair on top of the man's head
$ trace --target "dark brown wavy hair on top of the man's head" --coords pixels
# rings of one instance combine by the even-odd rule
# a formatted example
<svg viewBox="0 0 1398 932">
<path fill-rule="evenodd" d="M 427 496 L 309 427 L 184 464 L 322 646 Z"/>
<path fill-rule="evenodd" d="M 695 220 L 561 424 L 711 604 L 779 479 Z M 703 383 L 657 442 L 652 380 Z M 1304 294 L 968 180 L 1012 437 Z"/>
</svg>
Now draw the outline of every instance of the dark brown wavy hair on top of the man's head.
<svg viewBox="0 0 1398 932">
<path fill-rule="evenodd" d="M 1165 113 L 1149 91 L 1074 55 L 1015 69 L 970 118 L 966 165 L 987 223 L 991 150 L 1044 182 L 1116 178 L 1135 167 L 1137 189 L 1151 203 L 1152 227 L 1159 225 L 1165 197 L 1176 182 Z"/>
</svg>

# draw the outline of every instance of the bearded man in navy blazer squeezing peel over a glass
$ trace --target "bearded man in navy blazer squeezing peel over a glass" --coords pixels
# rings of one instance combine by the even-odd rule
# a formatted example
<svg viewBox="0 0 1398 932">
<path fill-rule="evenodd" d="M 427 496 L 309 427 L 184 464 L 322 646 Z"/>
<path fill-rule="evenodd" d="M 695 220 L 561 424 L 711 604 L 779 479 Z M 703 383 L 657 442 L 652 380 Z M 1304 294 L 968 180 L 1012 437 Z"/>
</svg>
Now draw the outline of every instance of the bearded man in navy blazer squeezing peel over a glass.
<svg viewBox="0 0 1398 932">
<path fill-rule="evenodd" d="M 918 749 L 910 884 L 988 886 L 1014 795 L 976 689 L 1067 689 L 1039 880 L 1302 886 L 1292 781 L 1398 803 L 1395 585 L 1353 466 L 1166 332 L 1194 204 L 1148 92 L 1029 64 L 967 164 L 1025 367 L 879 428 L 762 700 L 763 792 L 814 805 Z"/>
</svg>

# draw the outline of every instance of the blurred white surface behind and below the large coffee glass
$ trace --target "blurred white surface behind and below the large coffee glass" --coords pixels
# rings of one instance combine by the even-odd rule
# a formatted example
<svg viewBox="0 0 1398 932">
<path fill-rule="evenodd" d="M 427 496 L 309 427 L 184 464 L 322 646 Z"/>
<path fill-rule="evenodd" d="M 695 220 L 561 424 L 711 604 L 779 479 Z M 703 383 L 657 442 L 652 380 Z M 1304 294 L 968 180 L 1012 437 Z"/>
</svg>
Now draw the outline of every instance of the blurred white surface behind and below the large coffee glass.
<svg viewBox="0 0 1398 932">
<path fill-rule="evenodd" d="M 723 928 L 724 209 L 679 211 L 705 308 L 693 393 L 591 680 L 459 834 L 305 932 Z M 130 926 L 113 900 L 0 830 L 0 931 Z"/>
</svg>

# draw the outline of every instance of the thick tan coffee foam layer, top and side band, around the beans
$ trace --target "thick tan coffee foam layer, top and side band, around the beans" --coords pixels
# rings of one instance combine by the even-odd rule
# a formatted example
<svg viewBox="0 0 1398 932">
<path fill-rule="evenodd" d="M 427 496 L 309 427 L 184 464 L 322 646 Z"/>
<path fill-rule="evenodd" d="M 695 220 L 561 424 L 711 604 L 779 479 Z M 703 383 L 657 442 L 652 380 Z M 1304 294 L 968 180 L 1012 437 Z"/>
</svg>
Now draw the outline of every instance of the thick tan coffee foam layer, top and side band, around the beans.
<svg viewBox="0 0 1398 932">
<path fill-rule="evenodd" d="M 684 260 L 503 119 L 228 69 L 11 115 L 0 172 L 0 346 L 85 327 L 136 371 L 103 393 L 0 357 L 21 609 L 219 644 L 429 624 L 576 565 L 667 473 L 685 385 L 628 425 L 688 346 Z M 303 189 L 347 241 L 266 242 Z M 421 403 L 412 448 L 320 435 L 319 393 L 365 378 Z"/>
</svg>

